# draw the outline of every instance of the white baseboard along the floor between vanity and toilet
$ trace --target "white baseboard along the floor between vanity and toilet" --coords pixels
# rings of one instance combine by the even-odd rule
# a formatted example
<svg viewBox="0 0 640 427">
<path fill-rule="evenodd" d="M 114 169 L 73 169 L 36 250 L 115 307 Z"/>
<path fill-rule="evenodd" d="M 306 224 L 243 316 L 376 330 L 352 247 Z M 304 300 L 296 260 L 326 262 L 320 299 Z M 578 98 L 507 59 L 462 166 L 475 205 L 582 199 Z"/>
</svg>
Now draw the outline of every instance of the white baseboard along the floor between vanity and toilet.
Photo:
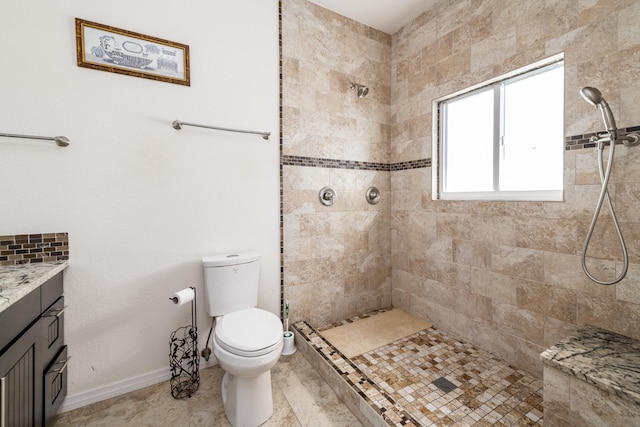
<svg viewBox="0 0 640 427">
<path fill-rule="evenodd" d="M 208 362 L 201 359 L 200 369 L 206 369 L 215 364 L 217 364 L 215 362 L 215 358 L 211 358 Z M 148 372 L 133 378 L 127 378 L 126 380 L 107 384 L 103 387 L 97 387 L 81 393 L 70 394 L 62 401 L 58 413 L 61 414 L 63 412 L 73 411 L 74 409 L 82 408 L 83 406 L 91 405 L 92 403 L 101 402 L 103 400 L 140 390 L 141 388 L 149 387 L 163 381 L 169 381 L 170 379 L 171 372 L 167 366 L 166 368 L 158 369 L 157 371 Z M 169 392 L 169 388 L 167 388 L 167 393 Z"/>
</svg>

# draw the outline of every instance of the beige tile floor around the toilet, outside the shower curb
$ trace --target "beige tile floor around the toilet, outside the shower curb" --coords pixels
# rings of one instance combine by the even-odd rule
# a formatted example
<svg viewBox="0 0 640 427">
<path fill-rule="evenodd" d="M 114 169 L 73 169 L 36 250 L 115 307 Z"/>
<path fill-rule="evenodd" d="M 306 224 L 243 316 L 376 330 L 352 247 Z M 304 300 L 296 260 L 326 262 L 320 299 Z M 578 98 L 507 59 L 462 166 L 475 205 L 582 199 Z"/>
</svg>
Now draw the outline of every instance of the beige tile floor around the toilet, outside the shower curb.
<svg viewBox="0 0 640 427">
<path fill-rule="evenodd" d="M 271 373 L 274 414 L 263 426 L 361 426 L 300 352 L 282 356 Z M 230 426 L 223 374 L 218 366 L 200 371 L 200 388 L 188 399 L 171 397 L 167 381 L 60 414 L 54 427 Z"/>
</svg>

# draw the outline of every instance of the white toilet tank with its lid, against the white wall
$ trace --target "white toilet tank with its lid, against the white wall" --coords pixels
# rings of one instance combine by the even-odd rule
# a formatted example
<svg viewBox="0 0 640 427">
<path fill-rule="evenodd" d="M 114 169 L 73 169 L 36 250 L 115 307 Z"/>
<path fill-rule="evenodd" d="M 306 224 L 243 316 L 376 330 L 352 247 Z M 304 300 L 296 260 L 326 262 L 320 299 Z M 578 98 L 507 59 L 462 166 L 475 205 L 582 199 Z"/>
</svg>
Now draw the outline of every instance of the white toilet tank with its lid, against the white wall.
<svg viewBox="0 0 640 427">
<path fill-rule="evenodd" d="M 204 300 L 209 316 L 222 316 L 258 305 L 258 252 L 204 257 L 202 267 Z"/>
</svg>

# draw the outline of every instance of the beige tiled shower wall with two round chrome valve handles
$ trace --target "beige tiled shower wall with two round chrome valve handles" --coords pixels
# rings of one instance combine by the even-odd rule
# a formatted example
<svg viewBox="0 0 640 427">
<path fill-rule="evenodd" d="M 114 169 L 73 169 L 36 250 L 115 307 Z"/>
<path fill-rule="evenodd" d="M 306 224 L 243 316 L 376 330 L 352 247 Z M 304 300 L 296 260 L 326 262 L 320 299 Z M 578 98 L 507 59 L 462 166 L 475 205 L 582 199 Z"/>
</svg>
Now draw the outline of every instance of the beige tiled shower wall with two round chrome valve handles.
<svg viewBox="0 0 640 427">
<path fill-rule="evenodd" d="M 292 321 L 320 325 L 391 303 L 391 38 L 305 0 L 281 13 L 284 298 Z"/>
</svg>

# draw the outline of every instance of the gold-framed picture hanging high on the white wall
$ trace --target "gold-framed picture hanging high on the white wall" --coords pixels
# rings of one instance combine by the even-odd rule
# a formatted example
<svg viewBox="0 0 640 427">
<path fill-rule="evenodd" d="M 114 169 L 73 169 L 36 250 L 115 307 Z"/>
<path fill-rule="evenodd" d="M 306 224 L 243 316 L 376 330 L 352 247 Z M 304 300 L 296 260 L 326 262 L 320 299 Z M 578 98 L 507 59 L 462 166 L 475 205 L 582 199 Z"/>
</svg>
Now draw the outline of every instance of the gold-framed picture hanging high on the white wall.
<svg viewBox="0 0 640 427">
<path fill-rule="evenodd" d="M 78 66 L 190 86 L 189 46 L 76 18 Z"/>
</svg>

